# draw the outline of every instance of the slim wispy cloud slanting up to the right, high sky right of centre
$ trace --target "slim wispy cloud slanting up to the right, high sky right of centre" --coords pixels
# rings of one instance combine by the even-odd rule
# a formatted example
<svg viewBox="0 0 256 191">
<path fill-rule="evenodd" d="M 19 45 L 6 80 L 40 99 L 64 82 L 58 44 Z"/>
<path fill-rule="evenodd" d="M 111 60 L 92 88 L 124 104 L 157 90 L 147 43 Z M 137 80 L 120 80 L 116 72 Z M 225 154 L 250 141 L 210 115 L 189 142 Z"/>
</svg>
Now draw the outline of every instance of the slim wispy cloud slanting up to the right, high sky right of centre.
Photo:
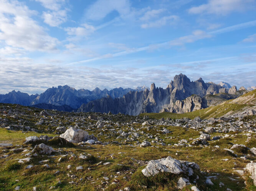
<svg viewBox="0 0 256 191">
<path fill-rule="evenodd" d="M 179 19 L 176 15 L 164 16 L 156 21 L 148 22 L 141 25 L 141 28 L 154 28 L 154 27 L 161 27 L 167 24 L 174 24 Z"/>
</svg>

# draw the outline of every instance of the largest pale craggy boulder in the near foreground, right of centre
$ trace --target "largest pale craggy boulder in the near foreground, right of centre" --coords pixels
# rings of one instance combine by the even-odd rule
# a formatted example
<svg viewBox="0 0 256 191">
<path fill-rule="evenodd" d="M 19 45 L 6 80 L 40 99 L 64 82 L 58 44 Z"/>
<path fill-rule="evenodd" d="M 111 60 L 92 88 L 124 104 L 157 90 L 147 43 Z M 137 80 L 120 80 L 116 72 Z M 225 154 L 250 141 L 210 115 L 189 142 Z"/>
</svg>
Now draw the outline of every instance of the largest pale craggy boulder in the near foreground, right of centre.
<svg viewBox="0 0 256 191">
<path fill-rule="evenodd" d="M 147 167 L 141 172 L 144 176 L 155 176 L 160 172 L 169 172 L 173 174 L 186 173 L 188 176 L 193 175 L 193 169 L 200 169 L 194 162 L 181 161 L 167 157 L 159 160 L 150 160 Z"/>
</svg>

